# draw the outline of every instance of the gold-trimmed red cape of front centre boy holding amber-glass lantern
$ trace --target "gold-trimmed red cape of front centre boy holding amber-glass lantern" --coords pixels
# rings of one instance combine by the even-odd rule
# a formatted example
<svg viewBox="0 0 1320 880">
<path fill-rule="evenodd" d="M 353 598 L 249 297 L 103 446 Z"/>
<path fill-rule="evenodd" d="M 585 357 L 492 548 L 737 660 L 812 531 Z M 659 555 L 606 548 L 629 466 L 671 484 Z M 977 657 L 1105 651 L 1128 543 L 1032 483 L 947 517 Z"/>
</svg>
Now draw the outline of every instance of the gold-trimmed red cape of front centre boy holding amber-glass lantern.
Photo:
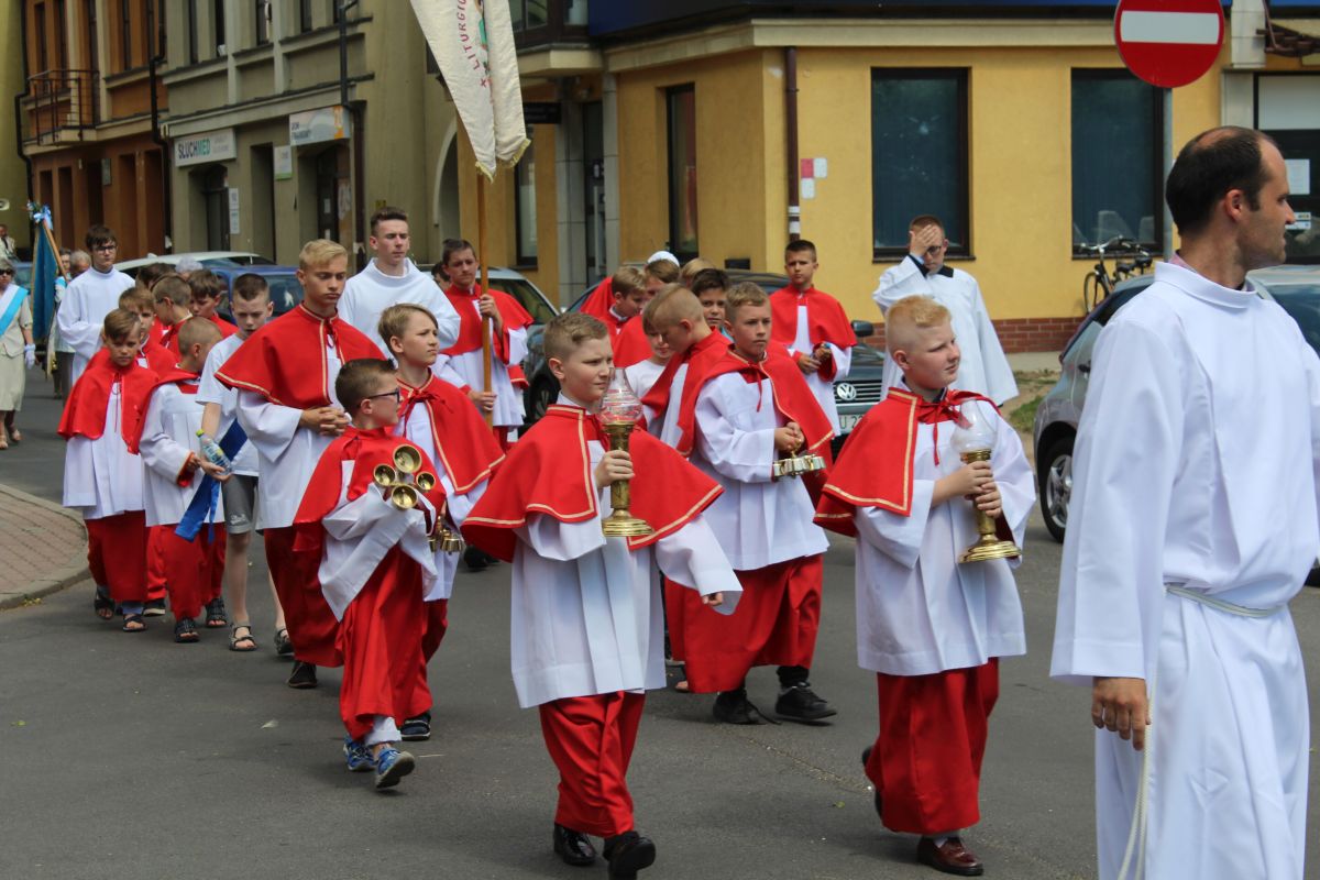
<svg viewBox="0 0 1320 880">
<path fill-rule="evenodd" d="M 463 521 L 463 537 L 506 562 L 513 561 L 517 536 L 531 515 L 561 522 L 601 516 L 591 474 L 589 439 L 602 439 L 595 420 L 579 406 L 556 404 L 527 435 L 519 438 L 486 493 Z M 634 427 L 628 441 L 634 463 L 632 515 L 651 524 L 652 534 L 627 538 L 636 550 L 673 534 L 705 511 L 719 486 L 672 449 Z"/>
</svg>

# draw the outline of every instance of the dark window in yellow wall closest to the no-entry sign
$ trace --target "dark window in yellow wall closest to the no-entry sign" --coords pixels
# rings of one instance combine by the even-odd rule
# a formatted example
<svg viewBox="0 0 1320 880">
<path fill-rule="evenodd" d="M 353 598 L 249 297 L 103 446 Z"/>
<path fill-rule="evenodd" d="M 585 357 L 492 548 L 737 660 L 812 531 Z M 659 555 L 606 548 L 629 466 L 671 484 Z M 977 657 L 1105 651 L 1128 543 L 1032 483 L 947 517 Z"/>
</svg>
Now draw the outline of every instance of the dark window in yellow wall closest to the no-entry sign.
<svg viewBox="0 0 1320 880">
<path fill-rule="evenodd" d="M 1164 100 L 1123 69 L 1073 70 L 1073 244 L 1163 247 Z"/>
</svg>

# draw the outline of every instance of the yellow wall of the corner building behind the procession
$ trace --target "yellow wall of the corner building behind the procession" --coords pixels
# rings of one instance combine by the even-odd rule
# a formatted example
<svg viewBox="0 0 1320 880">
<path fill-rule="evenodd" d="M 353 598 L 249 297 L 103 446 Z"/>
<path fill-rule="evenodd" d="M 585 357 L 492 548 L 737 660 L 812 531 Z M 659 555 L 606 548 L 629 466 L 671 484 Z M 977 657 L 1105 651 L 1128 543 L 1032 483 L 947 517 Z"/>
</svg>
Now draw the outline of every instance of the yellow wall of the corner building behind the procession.
<svg viewBox="0 0 1320 880">
<path fill-rule="evenodd" d="M 781 49 L 747 50 L 618 75 L 624 260 L 668 237 L 664 88 L 694 83 L 701 253 L 781 270 L 783 58 Z M 1111 47 L 799 49 L 799 156 L 829 164 L 801 202 L 818 286 L 850 315 L 879 318 L 871 292 L 892 263 L 875 263 L 871 247 L 871 70 L 966 67 L 973 256 L 950 264 L 977 276 L 995 319 L 1080 317 L 1089 263 L 1072 256 L 1071 71 L 1121 66 Z M 1175 91 L 1175 152 L 1218 120 L 1213 70 Z"/>
</svg>

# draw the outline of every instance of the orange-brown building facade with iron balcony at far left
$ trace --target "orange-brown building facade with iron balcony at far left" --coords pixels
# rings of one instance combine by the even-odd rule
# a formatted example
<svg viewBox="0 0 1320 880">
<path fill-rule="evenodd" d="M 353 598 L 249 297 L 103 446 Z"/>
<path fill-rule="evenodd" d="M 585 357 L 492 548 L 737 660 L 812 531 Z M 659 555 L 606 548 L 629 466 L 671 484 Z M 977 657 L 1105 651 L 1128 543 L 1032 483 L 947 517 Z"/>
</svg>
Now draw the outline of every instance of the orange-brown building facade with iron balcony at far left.
<svg viewBox="0 0 1320 880">
<path fill-rule="evenodd" d="M 36 201 L 50 204 L 61 244 L 91 223 L 123 256 L 161 252 L 169 227 L 160 117 L 164 0 L 25 0 L 26 63 L 20 149 Z"/>
</svg>

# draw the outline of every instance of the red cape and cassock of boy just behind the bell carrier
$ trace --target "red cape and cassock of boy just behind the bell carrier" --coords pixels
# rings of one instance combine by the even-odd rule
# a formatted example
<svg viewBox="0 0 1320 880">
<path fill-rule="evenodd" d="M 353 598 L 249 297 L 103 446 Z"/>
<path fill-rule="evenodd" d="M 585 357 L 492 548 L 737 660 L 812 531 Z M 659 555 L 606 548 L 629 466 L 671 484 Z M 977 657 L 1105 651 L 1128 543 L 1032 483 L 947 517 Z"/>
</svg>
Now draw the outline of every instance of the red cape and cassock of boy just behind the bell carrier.
<svg viewBox="0 0 1320 880">
<path fill-rule="evenodd" d="M 342 363 L 381 358 L 376 344 L 358 329 L 338 317 L 315 315 L 298 303 L 253 332 L 215 371 L 215 377 L 227 388 L 255 392 L 280 406 L 329 406 L 327 342 L 334 343 Z M 294 548 L 297 529 L 292 525 L 263 532 L 267 566 L 298 660 L 317 666 L 338 666 L 339 621 L 321 594 L 317 575 L 321 557 Z"/>
</svg>

